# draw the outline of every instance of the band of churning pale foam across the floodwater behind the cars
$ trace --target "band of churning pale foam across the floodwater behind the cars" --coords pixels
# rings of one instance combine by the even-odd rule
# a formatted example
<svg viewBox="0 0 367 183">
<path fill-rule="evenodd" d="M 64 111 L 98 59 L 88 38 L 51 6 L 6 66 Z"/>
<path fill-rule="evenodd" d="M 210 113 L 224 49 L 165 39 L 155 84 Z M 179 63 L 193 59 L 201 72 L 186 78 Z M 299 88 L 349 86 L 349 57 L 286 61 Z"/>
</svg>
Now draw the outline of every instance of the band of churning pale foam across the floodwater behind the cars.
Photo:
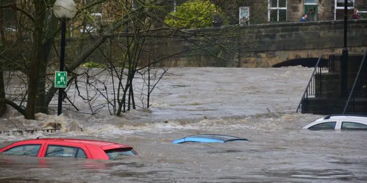
<svg viewBox="0 0 367 183">
<path fill-rule="evenodd" d="M 297 113 L 279 113 L 268 112 L 263 114 L 249 115 L 249 116 L 233 116 L 224 118 L 205 118 L 205 119 L 182 119 L 182 120 L 169 120 L 165 122 L 128 122 L 120 121 L 115 124 L 108 123 L 109 120 L 113 120 L 118 117 L 110 117 L 101 122 L 101 119 L 91 118 L 88 122 L 76 121 L 68 118 L 64 115 L 46 115 L 38 113 L 36 115 L 37 120 L 24 120 L 23 117 L 15 117 L 19 122 L 27 123 L 27 129 L 30 128 L 42 128 L 51 129 L 53 127 L 47 126 L 49 124 L 59 123 L 61 124 L 61 130 L 57 135 L 53 137 L 63 136 L 101 136 L 101 137 L 114 137 L 114 136 L 127 136 L 142 132 L 147 133 L 173 133 L 180 130 L 205 130 L 205 131 L 227 131 L 227 130 L 246 130 L 256 131 L 258 133 L 281 131 L 284 129 L 299 129 L 299 117 L 302 114 Z M 314 115 L 302 115 L 304 124 L 315 119 Z M 295 123 L 295 120 L 298 120 Z M 79 123 L 82 122 L 82 123 Z M 92 124 L 92 125 L 91 125 Z M 15 130 L 15 129 L 13 129 Z M 0 135 L 0 141 L 5 140 L 22 140 L 35 138 L 48 133 L 37 132 L 35 134 L 12 134 L 12 135 Z"/>
</svg>

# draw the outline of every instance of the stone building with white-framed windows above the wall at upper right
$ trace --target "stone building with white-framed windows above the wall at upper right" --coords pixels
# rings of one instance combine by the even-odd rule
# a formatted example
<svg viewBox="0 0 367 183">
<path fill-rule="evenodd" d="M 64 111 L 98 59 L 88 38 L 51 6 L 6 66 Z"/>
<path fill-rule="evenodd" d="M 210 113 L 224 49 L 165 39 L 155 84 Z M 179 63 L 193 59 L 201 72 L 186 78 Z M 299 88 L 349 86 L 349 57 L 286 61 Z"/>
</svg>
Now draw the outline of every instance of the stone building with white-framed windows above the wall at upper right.
<svg viewBox="0 0 367 183">
<path fill-rule="evenodd" d="M 249 8 L 250 24 L 297 22 L 303 14 L 307 14 L 307 21 L 344 19 L 344 0 L 242 0 L 238 7 L 233 14 L 239 15 L 241 7 Z M 366 0 L 348 0 L 348 19 L 354 8 L 360 19 L 367 18 Z"/>
</svg>

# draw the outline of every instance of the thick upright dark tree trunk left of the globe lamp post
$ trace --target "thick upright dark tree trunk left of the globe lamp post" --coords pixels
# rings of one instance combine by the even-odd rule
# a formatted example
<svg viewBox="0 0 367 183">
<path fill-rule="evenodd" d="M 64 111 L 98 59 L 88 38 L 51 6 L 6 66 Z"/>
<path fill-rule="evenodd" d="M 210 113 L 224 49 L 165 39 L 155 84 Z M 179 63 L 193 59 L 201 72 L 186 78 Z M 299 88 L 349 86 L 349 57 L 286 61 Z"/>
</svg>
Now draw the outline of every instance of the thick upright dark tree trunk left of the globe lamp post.
<svg viewBox="0 0 367 183">
<path fill-rule="evenodd" d="M 46 3 L 43 0 L 34 0 L 35 21 L 33 32 L 33 49 L 31 55 L 31 63 L 29 66 L 29 80 L 28 80 L 28 98 L 25 107 L 25 119 L 34 120 L 36 113 L 36 98 L 38 97 L 38 81 L 40 77 L 40 64 L 42 59 L 42 41 L 44 39 L 43 28 L 46 12 Z"/>
</svg>

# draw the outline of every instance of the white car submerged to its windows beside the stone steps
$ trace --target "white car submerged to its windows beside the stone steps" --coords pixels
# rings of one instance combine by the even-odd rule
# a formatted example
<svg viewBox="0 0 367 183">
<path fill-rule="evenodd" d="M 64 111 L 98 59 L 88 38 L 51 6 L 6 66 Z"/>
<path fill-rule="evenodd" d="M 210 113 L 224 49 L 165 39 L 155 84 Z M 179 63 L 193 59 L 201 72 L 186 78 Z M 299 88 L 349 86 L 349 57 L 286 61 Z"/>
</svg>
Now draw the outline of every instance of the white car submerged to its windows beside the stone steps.
<svg viewBox="0 0 367 183">
<path fill-rule="evenodd" d="M 302 129 L 310 130 L 367 130 L 367 116 L 352 114 L 334 114 L 320 118 L 304 126 Z"/>
</svg>

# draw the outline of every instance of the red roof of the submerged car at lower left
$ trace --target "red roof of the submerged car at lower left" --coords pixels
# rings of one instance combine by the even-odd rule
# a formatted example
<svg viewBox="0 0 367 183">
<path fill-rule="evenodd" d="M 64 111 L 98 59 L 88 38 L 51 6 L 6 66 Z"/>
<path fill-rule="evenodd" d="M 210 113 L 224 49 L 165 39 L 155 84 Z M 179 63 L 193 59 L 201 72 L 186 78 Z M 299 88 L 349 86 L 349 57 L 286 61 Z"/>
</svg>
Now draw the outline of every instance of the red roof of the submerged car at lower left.
<svg viewBox="0 0 367 183">
<path fill-rule="evenodd" d="M 27 142 L 27 141 L 33 141 L 33 142 L 37 142 L 37 141 L 71 142 L 71 143 L 88 144 L 88 145 L 93 145 L 93 146 L 97 146 L 97 147 L 103 147 L 103 146 L 107 146 L 107 145 L 118 145 L 120 148 L 121 147 L 122 148 L 131 147 L 129 145 L 115 143 L 115 142 L 105 142 L 105 141 L 96 141 L 96 140 L 87 140 L 87 139 L 48 138 L 48 139 L 29 139 L 29 140 L 24 140 L 24 141 L 20 141 L 20 142 Z"/>
</svg>

